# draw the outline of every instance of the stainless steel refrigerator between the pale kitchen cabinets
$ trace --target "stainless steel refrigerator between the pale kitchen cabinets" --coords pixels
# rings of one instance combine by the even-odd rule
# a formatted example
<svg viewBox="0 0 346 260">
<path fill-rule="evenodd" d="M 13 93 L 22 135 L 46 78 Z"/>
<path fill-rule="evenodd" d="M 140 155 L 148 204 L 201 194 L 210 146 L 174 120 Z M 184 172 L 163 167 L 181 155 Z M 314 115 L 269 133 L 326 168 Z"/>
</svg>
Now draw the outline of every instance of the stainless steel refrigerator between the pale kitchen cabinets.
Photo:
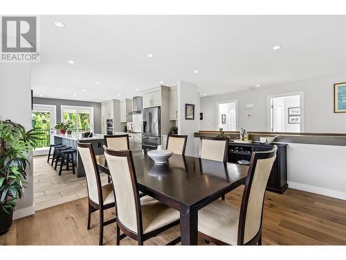
<svg viewBox="0 0 346 260">
<path fill-rule="evenodd" d="M 156 149 L 161 145 L 161 107 L 143 110 L 142 148 Z"/>
</svg>

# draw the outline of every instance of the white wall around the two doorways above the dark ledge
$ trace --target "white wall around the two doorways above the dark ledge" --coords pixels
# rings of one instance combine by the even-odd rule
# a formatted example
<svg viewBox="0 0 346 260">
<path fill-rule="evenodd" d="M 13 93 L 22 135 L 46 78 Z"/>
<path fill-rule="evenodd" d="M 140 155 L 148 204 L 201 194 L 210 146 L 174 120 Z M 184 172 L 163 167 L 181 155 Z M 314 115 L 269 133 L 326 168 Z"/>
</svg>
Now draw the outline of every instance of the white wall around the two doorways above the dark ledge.
<svg viewBox="0 0 346 260">
<path fill-rule="evenodd" d="M 201 98 L 201 130 L 217 130 L 216 103 L 238 100 L 238 128 L 267 130 L 267 97 L 276 94 L 304 92 L 304 132 L 346 132 L 346 113 L 335 114 L 334 84 L 345 82 L 346 74 L 261 87 L 244 92 L 230 92 Z M 246 104 L 253 108 L 247 109 Z M 252 114 L 248 117 L 247 114 Z"/>
</svg>

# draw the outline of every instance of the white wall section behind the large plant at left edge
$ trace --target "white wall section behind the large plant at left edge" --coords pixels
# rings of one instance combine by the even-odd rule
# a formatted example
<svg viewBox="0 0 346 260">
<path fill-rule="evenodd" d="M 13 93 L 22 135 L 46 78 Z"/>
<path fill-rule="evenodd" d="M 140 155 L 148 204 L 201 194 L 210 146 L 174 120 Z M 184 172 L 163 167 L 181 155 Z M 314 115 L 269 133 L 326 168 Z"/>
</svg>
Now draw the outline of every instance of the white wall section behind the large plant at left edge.
<svg viewBox="0 0 346 260">
<path fill-rule="evenodd" d="M 0 116 L 31 128 L 31 76 L 30 64 L 0 64 Z M 35 213 L 33 207 L 33 154 L 28 159 L 28 169 L 24 198 L 17 201 L 14 218 Z"/>
</svg>

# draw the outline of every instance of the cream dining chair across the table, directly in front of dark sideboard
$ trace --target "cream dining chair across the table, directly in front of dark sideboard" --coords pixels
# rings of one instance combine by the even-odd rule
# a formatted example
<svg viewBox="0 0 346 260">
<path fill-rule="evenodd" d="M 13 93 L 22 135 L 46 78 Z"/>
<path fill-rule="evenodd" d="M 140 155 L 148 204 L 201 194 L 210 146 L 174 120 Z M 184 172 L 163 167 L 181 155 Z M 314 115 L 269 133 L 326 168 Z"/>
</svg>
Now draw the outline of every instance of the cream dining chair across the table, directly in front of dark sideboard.
<svg viewBox="0 0 346 260">
<path fill-rule="evenodd" d="M 228 138 L 201 137 L 199 157 L 213 161 L 227 162 Z"/>
</svg>

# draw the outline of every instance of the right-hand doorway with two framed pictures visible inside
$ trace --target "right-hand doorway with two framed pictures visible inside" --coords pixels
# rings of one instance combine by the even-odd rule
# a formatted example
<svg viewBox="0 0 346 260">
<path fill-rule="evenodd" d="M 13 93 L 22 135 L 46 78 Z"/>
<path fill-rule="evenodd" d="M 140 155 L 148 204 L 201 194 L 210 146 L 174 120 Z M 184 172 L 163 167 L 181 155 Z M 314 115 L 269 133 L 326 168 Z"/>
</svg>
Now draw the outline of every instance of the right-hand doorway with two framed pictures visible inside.
<svg viewBox="0 0 346 260">
<path fill-rule="evenodd" d="M 270 131 L 302 132 L 300 94 L 270 97 Z"/>
</svg>

